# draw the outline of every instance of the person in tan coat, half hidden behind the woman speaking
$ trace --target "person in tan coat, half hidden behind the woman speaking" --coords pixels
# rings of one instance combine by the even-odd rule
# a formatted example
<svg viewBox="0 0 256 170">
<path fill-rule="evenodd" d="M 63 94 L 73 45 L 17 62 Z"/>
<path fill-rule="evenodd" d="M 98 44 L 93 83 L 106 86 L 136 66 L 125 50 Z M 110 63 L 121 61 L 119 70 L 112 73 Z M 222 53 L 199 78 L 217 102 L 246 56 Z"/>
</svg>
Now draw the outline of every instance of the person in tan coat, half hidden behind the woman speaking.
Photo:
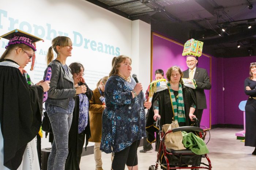
<svg viewBox="0 0 256 170">
<path fill-rule="evenodd" d="M 102 129 L 102 112 L 106 108 L 105 105 L 105 84 L 108 76 L 101 78 L 97 83 L 97 88 L 93 90 L 93 97 L 90 100 L 90 125 L 91 125 L 91 138 L 89 142 L 94 142 L 94 159 L 96 170 L 102 170 L 101 161 L 101 129 Z"/>
</svg>

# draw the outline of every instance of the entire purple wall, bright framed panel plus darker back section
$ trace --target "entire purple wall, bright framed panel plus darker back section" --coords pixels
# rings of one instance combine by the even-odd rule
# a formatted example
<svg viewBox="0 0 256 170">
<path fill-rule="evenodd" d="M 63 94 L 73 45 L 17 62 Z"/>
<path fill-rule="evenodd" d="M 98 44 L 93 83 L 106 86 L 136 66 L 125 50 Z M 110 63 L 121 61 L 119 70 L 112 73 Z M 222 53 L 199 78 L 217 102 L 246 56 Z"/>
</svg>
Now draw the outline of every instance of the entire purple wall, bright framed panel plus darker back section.
<svg viewBox="0 0 256 170">
<path fill-rule="evenodd" d="M 171 66 L 177 65 L 182 70 L 187 69 L 185 57 L 182 57 L 182 44 L 153 33 L 152 79 L 154 71 L 162 69 L 165 73 Z M 202 125 L 211 124 L 243 124 L 243 112 L 238 105 L 247 100 L 244 93 L 244 80 L 249 76 L 249 65 L 256 62 L 255 57 L 216 58 L 202 55 L 199 67 L 207 70 L 211 77 L 211 90 L 204 90 L 207 98 L 207 109 L 204 110 Z M 210 72 L 211 67 L 211 72 Z M 223 87 L 225 90 L 223 91 Z M 211 92 L 211 105 L 210 105 Z"/>
</svg>

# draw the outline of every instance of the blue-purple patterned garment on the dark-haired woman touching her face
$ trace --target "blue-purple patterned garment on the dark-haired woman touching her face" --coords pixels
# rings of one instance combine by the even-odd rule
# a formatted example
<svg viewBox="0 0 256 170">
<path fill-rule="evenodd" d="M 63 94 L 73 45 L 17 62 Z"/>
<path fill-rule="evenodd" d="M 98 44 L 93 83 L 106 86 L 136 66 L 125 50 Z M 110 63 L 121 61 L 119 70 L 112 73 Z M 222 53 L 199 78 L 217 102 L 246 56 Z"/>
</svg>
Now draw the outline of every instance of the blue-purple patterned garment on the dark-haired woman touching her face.
<svg viewBox="0 0 256 170">
<path fill-rule="evenodd" d="M 79 96 L 79 122 L 78 134 L 82 133 L 88 124 L 89 100 L 86 94 L 81 93 Z"/>
</svg>

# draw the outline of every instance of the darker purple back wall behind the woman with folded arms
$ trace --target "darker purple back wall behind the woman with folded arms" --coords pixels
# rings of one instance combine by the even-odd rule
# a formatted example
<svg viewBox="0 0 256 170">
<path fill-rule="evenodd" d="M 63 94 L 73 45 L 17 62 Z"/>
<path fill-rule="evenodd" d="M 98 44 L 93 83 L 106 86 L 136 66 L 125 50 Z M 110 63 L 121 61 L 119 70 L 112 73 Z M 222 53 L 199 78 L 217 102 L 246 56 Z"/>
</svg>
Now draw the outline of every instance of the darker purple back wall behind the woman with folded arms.
<svg viewBox="0 0 256 170">
<path fill-rule="evenodd" d="M 238 105 L 248 98 L 244 93 L 244 80 L 249 77 L 250 63 L 255 61 L 255 57 L 223 59 L 225 124 L 244 124 L 243 112 L 238 108 Z"/>
</svg>

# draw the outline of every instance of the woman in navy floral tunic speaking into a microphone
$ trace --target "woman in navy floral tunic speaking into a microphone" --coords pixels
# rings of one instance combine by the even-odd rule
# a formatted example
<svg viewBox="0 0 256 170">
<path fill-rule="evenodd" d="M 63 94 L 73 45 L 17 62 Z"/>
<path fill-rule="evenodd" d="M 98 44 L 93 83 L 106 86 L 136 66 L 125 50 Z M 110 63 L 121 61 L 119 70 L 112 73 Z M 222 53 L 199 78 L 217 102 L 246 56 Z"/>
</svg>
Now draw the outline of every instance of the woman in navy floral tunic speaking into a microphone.
<svg viewBox="0 0 256 170">
<path fill-rule="evenodd" d="M 114 152 L 113 170 L 138 170 L 137 148 L 146 136 L 142 84 L 131 75 L 131 58 L 120 55 L 112 60 L 112 70 L 105 86 L 106 109 L 102 115 L 101 150 Z M 144 104 L 144 105 L 143 105 Z"/>
</svg>

